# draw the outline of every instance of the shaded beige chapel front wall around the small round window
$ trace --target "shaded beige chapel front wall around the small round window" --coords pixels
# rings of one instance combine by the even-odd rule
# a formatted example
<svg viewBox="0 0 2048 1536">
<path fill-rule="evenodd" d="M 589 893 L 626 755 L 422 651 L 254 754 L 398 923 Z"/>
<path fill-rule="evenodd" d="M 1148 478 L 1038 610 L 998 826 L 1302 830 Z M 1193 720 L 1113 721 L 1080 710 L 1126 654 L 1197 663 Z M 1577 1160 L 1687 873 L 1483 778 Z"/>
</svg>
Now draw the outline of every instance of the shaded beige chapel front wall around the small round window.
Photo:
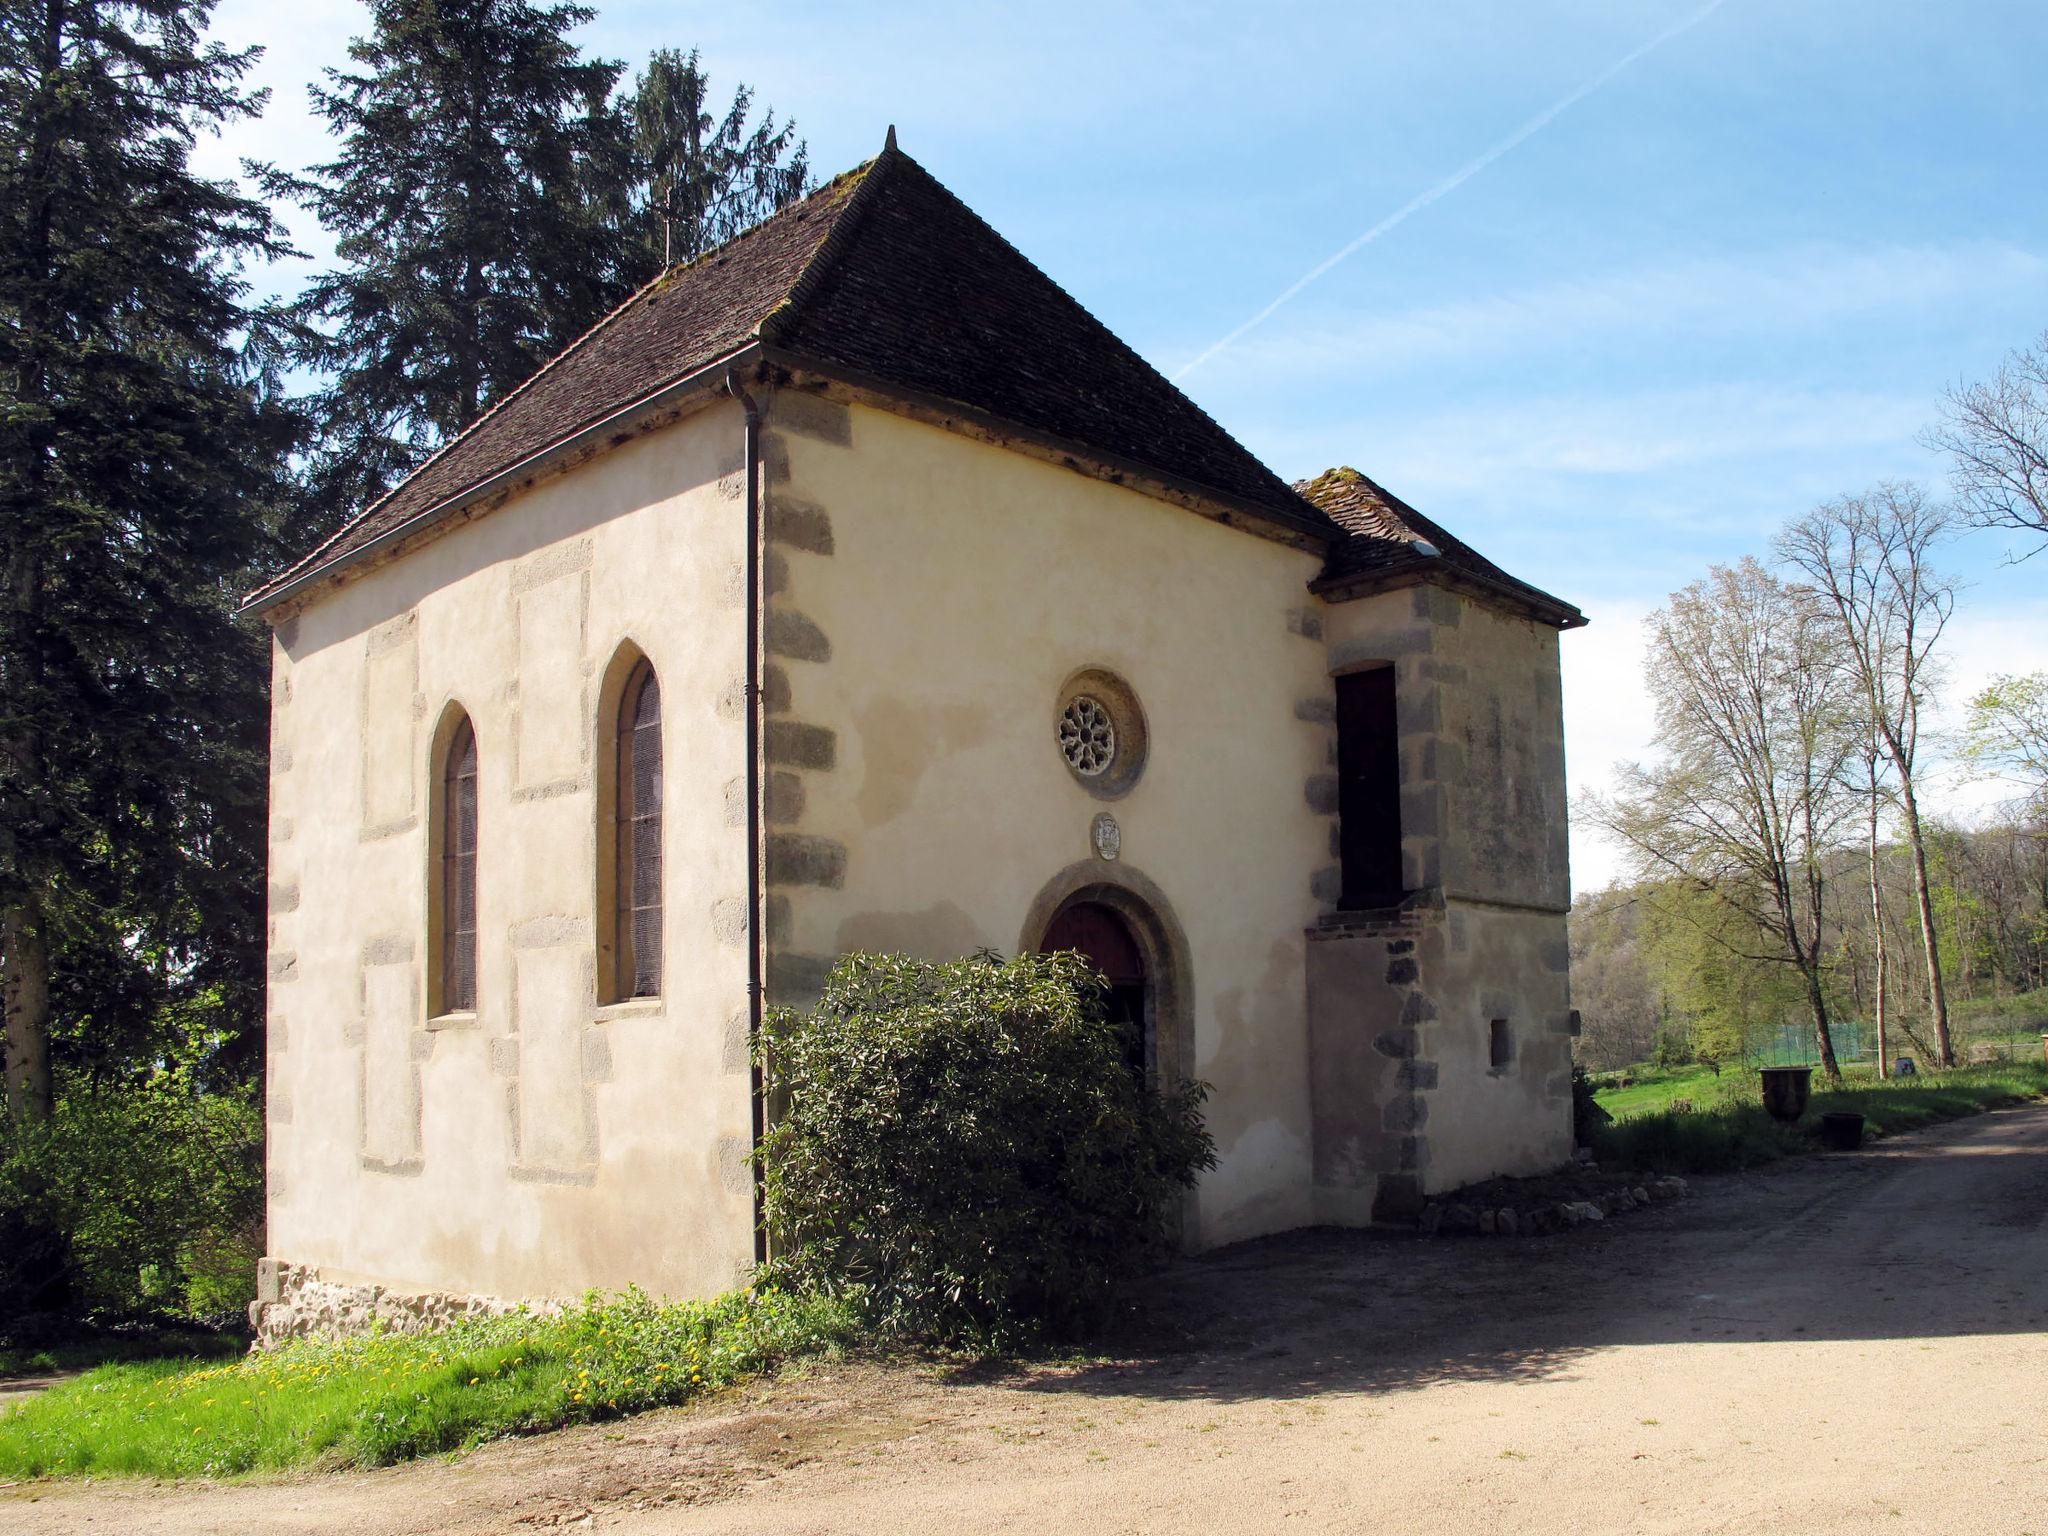
<svg viewBox="0 0 2048 1536">
<path fill-rule="evenodd" d="M 1317 557 L 1133 489 L 862 406 L 768 408 L 788 713 L 829 733 L 776 827 L 772 977 L 801 999 L 848 948 L 1014 952 L 1063 870 L 1145 885 L 1188 958 L 1194 1073 L 1221 1165 L 1190 1237 L 1311 1219 L 1305 928 L 1329 821 Z M 813 545 L 819 541 L 813 537 Z M 772 623 L 772 633 L 774 633 Z M 1305 633 L 1311 631 L 1311 633 Z M 1061 684 L 1108 668 L 1149 725 L 1143 776 L 1094 799 L 1055 743 Z M 1096 860 L 1110 811 L 1120 858 Z M 774 862 L 774 860 L 772 860 Z"/>
</svg>

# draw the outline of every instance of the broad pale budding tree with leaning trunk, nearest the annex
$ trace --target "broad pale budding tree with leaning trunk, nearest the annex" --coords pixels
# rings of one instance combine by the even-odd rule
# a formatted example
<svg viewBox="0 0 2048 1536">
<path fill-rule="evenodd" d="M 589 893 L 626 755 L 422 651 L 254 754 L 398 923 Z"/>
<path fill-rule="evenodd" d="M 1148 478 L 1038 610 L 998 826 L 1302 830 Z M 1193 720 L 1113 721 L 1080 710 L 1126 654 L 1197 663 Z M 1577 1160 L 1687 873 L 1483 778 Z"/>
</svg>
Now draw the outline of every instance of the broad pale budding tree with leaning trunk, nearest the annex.
<svg viewBox="0 0 2048 1536">
<path fill-rule="evenodd" d="M 1622 764 L 1612 799 L 1585 813 L 1642 879 L 1679 879 L 1724 901 L 1792 965 L 1815 1044 L 1841 1077 L 1823 983 L 1825 864 L 1855 795 L 1843 772 L 1860 729 L 1835 625 L 1757 561 L 1716 565 L 1649 621 L 1645 676 L 1657 702 L 1653 766 Z"/>
</svg>

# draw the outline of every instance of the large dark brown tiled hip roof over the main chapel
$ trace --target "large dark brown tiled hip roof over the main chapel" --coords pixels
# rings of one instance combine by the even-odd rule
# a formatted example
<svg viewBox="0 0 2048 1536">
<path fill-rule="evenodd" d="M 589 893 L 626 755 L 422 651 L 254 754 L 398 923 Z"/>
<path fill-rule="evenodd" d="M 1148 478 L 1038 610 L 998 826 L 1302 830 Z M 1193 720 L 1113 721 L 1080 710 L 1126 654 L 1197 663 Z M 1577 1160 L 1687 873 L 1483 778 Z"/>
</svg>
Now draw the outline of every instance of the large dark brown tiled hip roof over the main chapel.
<svg viewBox="0 0 2048 1536">
<path fill-rule="evenodd" d="M 1329 537 L 1327 520 L 893 143 L 635 293 L 309 551 L 264 602 L 750 342 L 1157 471 Z"/>
</svg>

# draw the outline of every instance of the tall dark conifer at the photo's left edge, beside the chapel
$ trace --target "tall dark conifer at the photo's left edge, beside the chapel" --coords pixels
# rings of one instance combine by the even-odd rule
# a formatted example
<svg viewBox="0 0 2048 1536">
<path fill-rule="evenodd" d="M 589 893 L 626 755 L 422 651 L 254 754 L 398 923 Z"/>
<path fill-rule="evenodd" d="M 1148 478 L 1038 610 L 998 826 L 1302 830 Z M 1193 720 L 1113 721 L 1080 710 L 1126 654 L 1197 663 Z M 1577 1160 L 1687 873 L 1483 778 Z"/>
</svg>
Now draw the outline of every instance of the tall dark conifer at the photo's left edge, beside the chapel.
<svg viewBox="0 0 2048 1536">
<path fill-rule="evenodd" d="M 264 651 L 231 610 L 293 418 L 238 270 L 285 246 L 188 162 L 262 104 L 209 10 L 0 0 L 0 1001 L 27 1120 L 53 999 L 104 1044 L 180 999 L 233 1034 L 260 987 Z"/>
</svg>

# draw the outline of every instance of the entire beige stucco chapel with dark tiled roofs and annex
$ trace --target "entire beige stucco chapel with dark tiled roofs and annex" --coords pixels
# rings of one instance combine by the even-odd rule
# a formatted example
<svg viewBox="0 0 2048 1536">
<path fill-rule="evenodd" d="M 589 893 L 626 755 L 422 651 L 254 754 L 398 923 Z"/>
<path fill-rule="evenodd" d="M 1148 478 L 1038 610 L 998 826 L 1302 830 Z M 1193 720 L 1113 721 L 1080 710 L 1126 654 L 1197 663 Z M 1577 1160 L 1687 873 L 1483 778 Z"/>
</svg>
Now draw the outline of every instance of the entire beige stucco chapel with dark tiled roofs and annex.
<svg viewBox="0 0 2048 1536">
<path fill-rule="evenodd" d="M 1288 485 L 893 143 L 250 600 L 279 1337 L 756 1260 L 764 1004 L 1079 948 L 1188 1247 L 1571 1147 L 1559 631 Z"/>
</svg>

